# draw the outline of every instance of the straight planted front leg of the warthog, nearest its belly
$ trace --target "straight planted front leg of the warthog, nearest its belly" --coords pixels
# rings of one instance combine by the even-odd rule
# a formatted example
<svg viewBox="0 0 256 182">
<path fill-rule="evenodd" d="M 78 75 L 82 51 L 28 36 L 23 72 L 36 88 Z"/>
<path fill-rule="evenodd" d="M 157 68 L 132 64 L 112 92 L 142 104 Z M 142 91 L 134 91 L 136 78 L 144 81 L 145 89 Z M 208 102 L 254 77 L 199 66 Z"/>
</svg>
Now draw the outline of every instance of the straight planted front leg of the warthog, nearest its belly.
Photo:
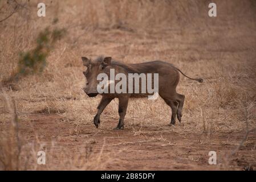
<svg viewBox="0 0 256 182">
<path fill-rule="evenodd" d="M 125 97 L 125 96 L 119 98 L 118 113 L 120 118 L 119 118 L 119 123 L 115 128 L 115 130 L 124 129 L 124 117 L 125 117 L 127 106 L 128 106 L 128 100 L 129 100 L 129 97 Z"/>
</svg>

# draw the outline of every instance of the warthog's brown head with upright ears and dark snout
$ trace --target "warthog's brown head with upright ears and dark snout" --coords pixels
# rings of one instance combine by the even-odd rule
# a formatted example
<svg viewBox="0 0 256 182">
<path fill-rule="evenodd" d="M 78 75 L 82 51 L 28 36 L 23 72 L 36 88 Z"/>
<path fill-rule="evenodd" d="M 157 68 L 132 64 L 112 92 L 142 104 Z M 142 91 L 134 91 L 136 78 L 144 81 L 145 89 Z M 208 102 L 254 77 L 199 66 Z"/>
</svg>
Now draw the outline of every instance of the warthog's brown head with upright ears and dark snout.
<svg viewBox="0 0 256 182">
<path fill-rule="evenodd" d="M 91 60 L 87 57 L 82 57 L 84 67 L 87 67 L 87 70 L 83 72 L 86 76 L 86 86 L 83 88 L 84 92 L 89 97 L 95 97 L 97 94 L 97 85 L 100 80 L 97 80 L 97 76 L 100 73 L 106 73 L 109 75 L 109 69 L 111 67 L 111 57 L 100 57 L 100 59 Z"/>
</svg>

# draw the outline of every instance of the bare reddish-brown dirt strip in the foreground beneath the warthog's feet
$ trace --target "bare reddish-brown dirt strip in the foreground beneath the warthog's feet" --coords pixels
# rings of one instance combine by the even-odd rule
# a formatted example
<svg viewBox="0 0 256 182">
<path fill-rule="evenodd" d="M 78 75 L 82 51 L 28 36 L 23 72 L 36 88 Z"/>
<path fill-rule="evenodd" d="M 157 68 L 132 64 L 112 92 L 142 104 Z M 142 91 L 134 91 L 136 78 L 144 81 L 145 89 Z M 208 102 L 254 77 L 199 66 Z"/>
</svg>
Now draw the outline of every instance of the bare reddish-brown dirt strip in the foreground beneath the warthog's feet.
<svg viewBox="0 0 256 182">
<path fill-rule="evenodd" d="M 105 170 L 220 170 L 225 169 L 225 160 L 241 142 L 245 133 L 216 133 L 209 136 L 205 133 L 176 133 L 175 127 L 144 127 L 135 133 L 134 128 L 127 126 L 125 130 L 112 130 L 116 126 L 115 119 L 105 120 L 100 129 L 92 123 L 80 127 L 79 134 L 71 134 L 72 122 L 63 122 L 54 114 L 31 114 L 27 121 L 22 121 L 21 134 L 32 141 L 37 133 L 39 140 L 51 147 L 55 140 L 58 147 L 64 148 L 66 155 L 77 155 L 77 147 L 89 148 L 89 153 L 99 155 L 103 152 L 112 153 L 111 161 Z M 170 129 L 171 128 L 171 129 Z M 255 141 L 251 134 L 249 141 Z M 209 151 L 217 152 L 217 165 L 209 165 Z M 78 152 L 79 153 L 79 152 Z M 56 154 L 58 155 L 58 153 Z M 88 154 L 90 155 L 90 154 Z M 114 160 L 118 159 L 118 160 Z M 60 159 L 58 159 L 60 160 Z M 58 160 L 52 165 L 58 166 Z M 232 156 L 227 168 L 243 170 L 255 166 L 255 143 L 246 142 L 237 155 Z M 39 167 L 38 169 L 47 169 Z"/>
</svg>

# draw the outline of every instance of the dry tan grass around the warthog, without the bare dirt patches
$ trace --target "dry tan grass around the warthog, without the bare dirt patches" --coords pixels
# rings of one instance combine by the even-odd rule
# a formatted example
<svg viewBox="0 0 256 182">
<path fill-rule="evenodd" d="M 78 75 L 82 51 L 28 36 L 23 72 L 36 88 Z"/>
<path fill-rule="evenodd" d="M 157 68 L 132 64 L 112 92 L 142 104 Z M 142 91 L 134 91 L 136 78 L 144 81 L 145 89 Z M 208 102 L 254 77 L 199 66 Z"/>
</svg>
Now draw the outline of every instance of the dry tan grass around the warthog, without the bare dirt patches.
<svg viewBox="0 0 256 182">
<path fill-rule="evenodd" d="M 85 79 L 80 57 L 101 54 L 125 63 L 165 60 L 189 76 L 204 78 L 205 82 L 198 84 L 181 77 L 177 91 L 186 96 L 184 116 L 182 124 L 171 128 L 170 132 L 207 133 L 210 137 L 212 133 L 245 131 L 244 107 L 247 107 L 248 127 L 255 127 L 254 1 L 217 1 L 217 18 L 207 16 L 209 1 L 46 1 L 45 18 L 36 16 L 36 1 L 19 2 L 26 8 L 0 23 L 0 81 L 13 74 L 19 52 L 33 48 L 36 35 L 45 27 L 66 28 L 67 35 L 56 43 L 47 57 L 48 65 L 43 73 L 24 77 L 2 88 L 5 97 L 0 98 L 1 127 L 16 121 L 11 119 L 15 115 L 18 122 L 28 121 L 30 114 L 58 114 L 63 122 L 74 122 L 76 127 L 70 129 L 70 135 L 79 137 L 80 126 L 91 123 L 100 100 L 100 97 L 88 98 L 81 89 Z M 1 1 L 0 7 L 8 6 L 5 3 Z M 5 9 L 5 13 L 10 9 Z M 4 15 L 0 14 L 0 19 Z M 56 18 L 59 21 L 53 25 Z M 10 101 L 5 98 L 9 97 L 15 101 L 17 111 L 7 106 Z M 104 111 L 103 127 L 108 125 L 104 121 L 118 117 L 117 105 L 115 100 Z M 125 118 L 134 136 L 153 135 L 143 128 L 159 127 L 161 130 L 162 125 L 169 123 L 170 111 L 161 99 L 132 100 Z M 7 129 L 14 130 L 15 126 Z M 118 162 L 112 156 L 119 151 L 110 154 L 103 148 L 98 156 L 91 154 L 90 147 L 84 145 L 78 147 L 74 156 L 62 152 L 63 148 L 56 147 L 54 141 L 27 143 L 21 138 L 23 147 L 13 150 L 9 147 L 18 147 L 18 138 L 14 136 L 18 131 L 6 131 L 1 129 L 0 160 L 12 161 L 2 162 L 0 169 L 37 169 L 17 162 L 32 163 L 35 151 L 46 146 L 52 158 L 66 159 L 57 169 L 103 169 L 109 162 Z M 88 140 L 90 144 L 94 142 L 94 139 Z M 61 156 L 56 156 L 56 151 Z M 47 169 L 56 168 L 53 165 Z"/>
</svg>

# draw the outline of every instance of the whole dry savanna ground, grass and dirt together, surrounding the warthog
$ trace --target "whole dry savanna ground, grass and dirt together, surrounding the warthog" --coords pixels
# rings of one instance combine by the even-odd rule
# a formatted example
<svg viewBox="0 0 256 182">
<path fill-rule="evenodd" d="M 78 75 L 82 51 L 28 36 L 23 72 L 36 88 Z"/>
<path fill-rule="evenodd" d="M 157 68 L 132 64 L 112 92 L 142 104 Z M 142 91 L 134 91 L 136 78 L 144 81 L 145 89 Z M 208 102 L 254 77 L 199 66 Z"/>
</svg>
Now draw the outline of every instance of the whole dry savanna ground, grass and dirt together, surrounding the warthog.
<svg viewBox="0 0 256 182">
<path fill-rule="evenodd" d="M 47 1 L 40 19 L 29 2 L 0 24 L 0 80 L 15 71 L 20 51 L 35 47 L 39 31 L 67 30 L 42 73 L 1 88 L 0 169 L 256 169 L 255 2 L 217 1 L 217 18 L 209 18 L 208 1 L 166 2 Z M 81 56 L 99 55 L 124 63 L 164 60 L 204 82 L 181 76 L 177 92 L 186 98 L 175 126 L 159 98 L 130 100 L 120 131 L 113 130 L 114 100 L 96 129 L 100 96 L 81 89 Z M 46 165 L 36 162 L 41 150 Z M 216 165 L 209 165 L 209 151 L 216 151 Z"/>
</svg>

